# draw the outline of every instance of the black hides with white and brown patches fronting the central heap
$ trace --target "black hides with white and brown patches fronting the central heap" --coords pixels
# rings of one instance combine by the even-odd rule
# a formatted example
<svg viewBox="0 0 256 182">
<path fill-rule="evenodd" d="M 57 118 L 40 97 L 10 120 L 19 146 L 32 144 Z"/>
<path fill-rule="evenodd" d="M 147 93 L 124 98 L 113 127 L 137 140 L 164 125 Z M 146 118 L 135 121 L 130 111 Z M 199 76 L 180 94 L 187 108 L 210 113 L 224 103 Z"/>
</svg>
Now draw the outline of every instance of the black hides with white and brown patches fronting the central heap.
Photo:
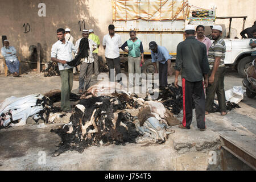
<svg viewBox="0 0 256 182">
<path fill-rule="evenodd" d="M 83 152 L 86 147 L 105 144 L 135 142 L 139 132 L 133 123 L 134 117 L 124 109 L 138 105 L 127 101 L 121 94 L 116 97 L 100 96 L 81 100 L 71 115 L 70 122 L 51 130 L 61 137 L 59 148 L 52 156 L 64 151 Z"/>
</svg>

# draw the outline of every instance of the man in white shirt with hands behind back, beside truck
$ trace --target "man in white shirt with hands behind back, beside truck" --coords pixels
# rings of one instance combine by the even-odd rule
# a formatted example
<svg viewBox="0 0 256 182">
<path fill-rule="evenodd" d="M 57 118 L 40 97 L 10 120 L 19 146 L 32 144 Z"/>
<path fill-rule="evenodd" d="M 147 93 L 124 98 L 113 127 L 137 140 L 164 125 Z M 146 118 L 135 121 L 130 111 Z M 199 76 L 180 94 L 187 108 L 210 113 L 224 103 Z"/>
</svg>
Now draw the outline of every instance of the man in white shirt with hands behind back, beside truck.
<svg viewBox="0 0 256 182">
<path fill-rule="evenodd" d="M 113 24 L 109 25 L 109 34 L 104 36 L 102 45 L 105 49 L 105 57 L 109 67 L 110 81 L 114 81 L 114 75 L 110 75 L 110 70 L 115 68 L 117 75 L 121 73 L 119 48 L 121 48 L 122 42 L 121 36 L 115 34 L 115 27 Z M 119 81 L 122 81 L 122 78 L 120 78 Z"/>
</svg>

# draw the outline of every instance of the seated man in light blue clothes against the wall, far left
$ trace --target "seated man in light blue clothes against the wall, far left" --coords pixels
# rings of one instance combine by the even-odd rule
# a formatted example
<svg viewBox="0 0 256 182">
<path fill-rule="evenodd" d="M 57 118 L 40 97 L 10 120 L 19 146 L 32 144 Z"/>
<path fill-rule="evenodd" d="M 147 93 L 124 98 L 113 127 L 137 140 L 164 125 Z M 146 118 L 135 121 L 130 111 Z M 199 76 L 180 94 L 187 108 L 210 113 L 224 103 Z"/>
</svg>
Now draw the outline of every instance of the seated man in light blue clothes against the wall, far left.
<svg viewBox="0 0 256 182">
<path fill-rule="evenodd" d="M 5 57 L 5 63 L 7 68 L 13 74 L 14 77 L 19 76 L 19 60 L 16 56 L 16 49 L 13 46 L 9 46 L 9 40 L 3 41 L 1 53 Z"/>
</svg>

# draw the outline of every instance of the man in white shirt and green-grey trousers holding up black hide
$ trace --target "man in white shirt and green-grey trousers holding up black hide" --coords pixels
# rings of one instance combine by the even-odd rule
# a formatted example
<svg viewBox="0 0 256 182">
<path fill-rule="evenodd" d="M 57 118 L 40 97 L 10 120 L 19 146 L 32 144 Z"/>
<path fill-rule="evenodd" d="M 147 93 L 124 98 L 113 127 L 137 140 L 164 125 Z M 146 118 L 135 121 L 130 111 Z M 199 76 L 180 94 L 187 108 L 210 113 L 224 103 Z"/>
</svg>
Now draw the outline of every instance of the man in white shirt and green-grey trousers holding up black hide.
<svg viewBox="0 0 256 182">
<path fill-rule="evenodd" d="M 58 63 L 61 77 L 61 110 L 71 113 L 71 104 L 69 96 L 73 86 L 73 67 L 67 65 L 72 60 L 72 51 L 76 52 L 76 47 L 69 41 L 65 40 L 65 30 L 57 30 L 59 39 L 52 45 L 51 60 Z"/>
</svg>

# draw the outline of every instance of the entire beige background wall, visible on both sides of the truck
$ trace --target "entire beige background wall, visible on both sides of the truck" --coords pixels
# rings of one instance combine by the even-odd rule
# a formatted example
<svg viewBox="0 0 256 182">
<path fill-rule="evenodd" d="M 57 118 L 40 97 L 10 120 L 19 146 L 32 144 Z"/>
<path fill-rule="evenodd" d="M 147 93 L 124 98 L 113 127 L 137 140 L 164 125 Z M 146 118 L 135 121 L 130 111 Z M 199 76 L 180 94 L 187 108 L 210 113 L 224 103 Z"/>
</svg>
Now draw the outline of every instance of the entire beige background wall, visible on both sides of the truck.
<svg viewBox="0 0 256 182">
<path fill-rule="evenodd" d="M 38 4 L 46 4 L 46 17 L 38 16 Z M 189 0 L 192 5 L 210 9 L 217 6 L 217 16 L 247 15 L 245 27 L 251 27 L 255 14 L 255 0 Z M 71 35 L 75 40 L 81 37 L 79 21 L 85 20 L 86 28 L 93 28 L 101 42 L 108 33 L 108 25 L 112 23 L 111 0 L 0 0 L 0 35 L 7 35 L 22 60 L 29 55 L 31 45 L 42 45 L 43 62 L 50 60 L 51 46 L 57 41 L 56 30 L 59 27 L 71 28 Z M 24 34 L 24 23 L 29 23 L 31 30 Z M 229 26 L 229 20 L 217 20 L 218 24 Z M 242 19 L 234 19 L 232 27 L 236 28 L 238 37 L 242 30 Z M 2 40 L 2 39 L 1 39 Z M 2 45 L 1 45 L 2 47 Z M 100 47 L 100 56 L 104 49 Z M 104 56 L 103 56 L 104 57 Z"/>
</svg>

